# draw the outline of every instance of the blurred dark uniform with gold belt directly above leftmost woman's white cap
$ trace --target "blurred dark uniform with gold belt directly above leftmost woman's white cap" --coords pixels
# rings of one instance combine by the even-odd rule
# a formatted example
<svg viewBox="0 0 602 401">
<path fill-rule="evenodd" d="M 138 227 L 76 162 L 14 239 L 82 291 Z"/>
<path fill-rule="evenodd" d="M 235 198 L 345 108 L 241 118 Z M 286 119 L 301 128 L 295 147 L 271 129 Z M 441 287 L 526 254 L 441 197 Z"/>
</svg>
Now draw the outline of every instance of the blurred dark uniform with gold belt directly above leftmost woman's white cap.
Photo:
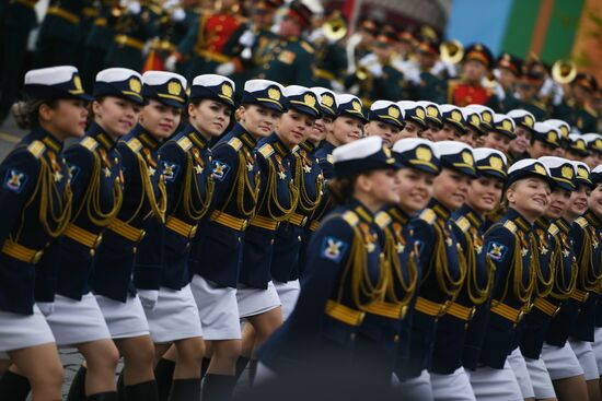
<svg viewBox="0 0 602 401">
<path fill-rule="evenodd" d="M 81 0 L 50 1 L 39 27 L 34 57 L 36 68 L 76 63 L 83 5 Z"/>
</svg>

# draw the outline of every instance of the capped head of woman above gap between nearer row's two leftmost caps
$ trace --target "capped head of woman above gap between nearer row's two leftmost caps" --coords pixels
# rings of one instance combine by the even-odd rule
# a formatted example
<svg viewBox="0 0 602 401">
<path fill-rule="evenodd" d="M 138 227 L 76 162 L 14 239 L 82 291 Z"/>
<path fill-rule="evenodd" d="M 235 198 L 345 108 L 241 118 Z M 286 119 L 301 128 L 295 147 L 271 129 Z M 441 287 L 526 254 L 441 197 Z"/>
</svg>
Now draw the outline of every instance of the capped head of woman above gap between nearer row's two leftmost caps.
<svg viewBox="0 0 602 401">
<path fill-rule="evenodd" d="M 377 101 L 368 111 L 368 123 L 363 127 L 366 135 L 379 135 L 391 148 L 404 128 L 404 115 L 393 102 Z"/>
</svg>

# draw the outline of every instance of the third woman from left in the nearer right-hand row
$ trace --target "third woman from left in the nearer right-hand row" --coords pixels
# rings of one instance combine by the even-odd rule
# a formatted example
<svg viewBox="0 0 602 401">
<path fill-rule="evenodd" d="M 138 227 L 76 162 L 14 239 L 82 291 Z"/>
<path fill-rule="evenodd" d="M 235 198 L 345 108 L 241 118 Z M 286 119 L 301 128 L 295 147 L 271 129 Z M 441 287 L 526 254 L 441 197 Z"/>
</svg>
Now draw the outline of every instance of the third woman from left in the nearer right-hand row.
<svg viewBox="0 0 602 401">
<path fill-rule="evenodd" d="M 450 214 L 465 202 L 476 169 L 472 148 L 465 143 L 441 141 L 436 145 L 442 170 L 435 179 L 429 207 L 420 213 L 420 219 L 429 225 L 424 231 L 415 229 L 416 238 L 425 244 L 420 258 L 428 258 L 429 267 L 416 303 L 420 315 L 416 314 L 415 319 L 420 316 L 418 321 L 421 326 L 418 329 L 427 333 L 431 328 L 433 330 L 429 333 L 432 335 L 429 371 L 435 399 L 444 399 L 451 391 L 458 400 L 474 400 L 468 377 L 462 367 L 462 353 L 466 326 L 477 299 L 471 297 L 475 291 L 471 286 L 475 284 L 471 281 L 466 283 L 464 279 L 467 273 L 476 274 L 478 285 L 483 286 L 486 274 L 477 272 L 477 266 L 466 259 L 471 255 L 467 244 L 464 244 L 461 229 L 450 222 Z"/>
</svg>

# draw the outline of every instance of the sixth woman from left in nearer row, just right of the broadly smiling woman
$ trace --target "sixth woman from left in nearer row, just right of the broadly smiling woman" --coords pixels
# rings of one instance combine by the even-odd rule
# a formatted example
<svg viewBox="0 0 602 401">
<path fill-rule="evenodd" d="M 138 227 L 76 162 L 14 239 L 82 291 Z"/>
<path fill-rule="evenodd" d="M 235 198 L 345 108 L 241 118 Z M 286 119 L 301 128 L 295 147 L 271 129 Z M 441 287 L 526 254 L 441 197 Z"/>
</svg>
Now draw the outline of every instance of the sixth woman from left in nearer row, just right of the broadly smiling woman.
<svg viewBox="0 0 602 401">
<path fill-rule="evenodd" d="M 549 321 L 558 314 L 562 299 L 567 298 L 567 294 L 575 285 L 576 275 L 572 274 L 572 252 L 567 255 L 567 267 L 565 268 L 565 255 L 560 252 L 560 244 L 558 244 L 558 248 L 554 247 L 554 235 L 558 234 L 558 228 L 555 226 L 556 228 L 553 231 L 552 224 L 562 217 L 568 207 L 570 193 L 575 190 L 572 184 L 575 168 L 566 158 L 544 156 L 539 161 L 547 167 L 556 182 L 545 214 L 535 221 L 540 267 L 542 273 L 549 275 L 548 279 L 544 278 L 543 280 L 549 282 L 549 285 L 547 288 L 540 288 L 537 296 L 533 299 L 533 308 L 524 318 L 520 350 L 526 363 L 535 398 L 537 400 L 555 400 L 556 392 L 541 354 Z M 558 224 L 563 223 L 558 222 Z M 539 285 L 541 286 L 541 284 L 540 282 Z"/>
</svg>

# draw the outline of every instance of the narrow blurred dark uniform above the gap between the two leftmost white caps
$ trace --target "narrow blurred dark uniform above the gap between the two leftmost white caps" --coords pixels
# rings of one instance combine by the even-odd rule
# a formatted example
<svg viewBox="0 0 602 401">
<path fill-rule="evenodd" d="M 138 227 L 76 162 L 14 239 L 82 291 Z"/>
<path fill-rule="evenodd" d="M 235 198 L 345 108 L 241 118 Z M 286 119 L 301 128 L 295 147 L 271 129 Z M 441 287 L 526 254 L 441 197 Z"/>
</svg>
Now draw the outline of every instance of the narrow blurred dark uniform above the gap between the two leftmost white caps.
<svg viewBox="0 0 602 401">
<path fill-rule="evenodd" d="M 90 32 L 85 37 L 85 48 L 82 61 L 83 86 L 91 91 L 96 74 L 104 69 L 104 59 L 115 39 L 115 16 L 113 15 L 113 3 L 115 0 L 102 0 L 99 15 L 92 22 Z"/>
</svg>

